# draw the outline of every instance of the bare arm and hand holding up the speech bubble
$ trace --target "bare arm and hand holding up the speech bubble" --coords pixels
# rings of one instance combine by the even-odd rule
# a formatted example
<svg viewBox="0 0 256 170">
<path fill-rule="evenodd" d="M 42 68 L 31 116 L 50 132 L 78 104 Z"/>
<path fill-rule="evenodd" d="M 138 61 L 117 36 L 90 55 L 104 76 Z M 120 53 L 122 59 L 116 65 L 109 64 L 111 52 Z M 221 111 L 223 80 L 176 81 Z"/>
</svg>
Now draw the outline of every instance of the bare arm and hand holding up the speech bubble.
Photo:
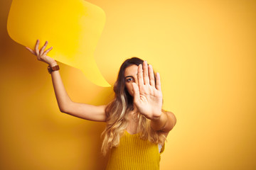
<svg viewBox="0 0 256 170">
<path fill-rule="evenodd" d="M 36 55 L 39 61 L 46 62 L 50 67 L 54 67 L 57 65 L 57 62 L 53 60 L 53 58 L 47 56 L 47 53 L 50 52 L 53 47 L 50 47 L 45 51 L 47 45 L 48 41 L 46 41 L 45 45 L 43 45 L 41 50 L 39 50 L 39 40 L 37 40 L 35 50 L 31 50 L 29 47 L 26 47 L 26 49 L 28 49 L 33 55 Z M 51 77 L 55 96 L 61 112 L 86 120 L 100 122 L 104 122 L 106 120 L 106 106 L 92 106 L 85 103 L 73 102 L 68 96 L 67 91 L 65 91 L 63 81 L 60 77 L 60 72 L 58 70 L 51 72 Z"/>
</svg>

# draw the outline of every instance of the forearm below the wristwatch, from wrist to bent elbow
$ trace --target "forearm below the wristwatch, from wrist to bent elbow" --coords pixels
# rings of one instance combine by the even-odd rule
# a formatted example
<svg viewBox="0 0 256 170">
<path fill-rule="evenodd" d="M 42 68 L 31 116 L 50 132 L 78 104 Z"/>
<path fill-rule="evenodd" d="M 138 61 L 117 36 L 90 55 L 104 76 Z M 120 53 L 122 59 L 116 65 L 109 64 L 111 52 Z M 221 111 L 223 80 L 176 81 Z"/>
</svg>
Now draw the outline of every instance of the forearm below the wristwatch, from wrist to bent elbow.
<svg viewBox="0 0 256 170">
<path fill-rule="evenodd" d="M 50 67 L 53 67 L 57 65 L 57 63 L 50 64 Z M 63 81 L 60 77 L 59 71 L 51 72 L 51 77 L 53 81 L 53 89 L 55 92 L 55 96 L 58 102 L 58 106 L 60 108 L 61 112 L 65 112 L 66 107 L 72 103 L 70 97 L 68 96 L 67 91 L 65 90 L 65 87 L 63 85 Z"/>
</svg>

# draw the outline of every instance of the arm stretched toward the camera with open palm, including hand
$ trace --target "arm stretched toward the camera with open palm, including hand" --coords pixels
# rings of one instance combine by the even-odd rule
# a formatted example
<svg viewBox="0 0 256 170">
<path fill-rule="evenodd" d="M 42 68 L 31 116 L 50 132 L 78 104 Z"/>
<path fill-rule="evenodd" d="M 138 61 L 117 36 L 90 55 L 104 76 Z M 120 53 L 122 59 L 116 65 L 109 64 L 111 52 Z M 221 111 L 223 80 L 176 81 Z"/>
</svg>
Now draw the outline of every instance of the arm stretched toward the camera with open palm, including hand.
<svg viewBox="0 0 256 170">
<path fill-rule="evenodd" d="M 151 65 L 143 62 L 138 67 L 138 84 L 132 83 L 134 89 L 134 103 L 139 113 L 151 120 L 151 128 L 168 132 L 176 125 L 174 113 L 162 109 L 163 94 L 161 92 L 160 75 Z"/>
</svg>

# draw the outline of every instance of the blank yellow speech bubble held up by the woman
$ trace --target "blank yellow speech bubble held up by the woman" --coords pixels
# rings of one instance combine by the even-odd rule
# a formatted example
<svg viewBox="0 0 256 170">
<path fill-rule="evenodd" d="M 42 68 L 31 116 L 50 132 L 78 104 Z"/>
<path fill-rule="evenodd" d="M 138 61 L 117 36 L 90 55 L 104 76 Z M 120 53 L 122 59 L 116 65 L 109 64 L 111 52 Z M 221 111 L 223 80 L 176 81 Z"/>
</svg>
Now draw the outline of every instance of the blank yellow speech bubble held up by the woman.
<svg viewBox="0 0 256 170">
<path fill-rule="evenodd" d="M 99 86 L 110 86 L 102 77 L 94 52 L 105 25 L 105 12 L 83 0 L 14 0 L 7 21 L 10 37 L 34 48 L 48 40 L 48 56 L 81 69 Z"/>
</svg>

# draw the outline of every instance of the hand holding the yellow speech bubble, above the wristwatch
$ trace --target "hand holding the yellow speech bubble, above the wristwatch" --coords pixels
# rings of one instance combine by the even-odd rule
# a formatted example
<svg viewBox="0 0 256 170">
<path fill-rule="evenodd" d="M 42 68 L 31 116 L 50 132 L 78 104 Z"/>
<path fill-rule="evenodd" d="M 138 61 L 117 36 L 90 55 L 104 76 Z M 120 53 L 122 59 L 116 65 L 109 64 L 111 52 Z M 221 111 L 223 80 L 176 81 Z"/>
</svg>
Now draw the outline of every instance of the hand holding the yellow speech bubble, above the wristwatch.
<svg viewBox="0 0 256 170">
<path fill-rule="evenodd" d="M 46 41 L 45 45 L 41 48 L 41 50 L 38 49 L 40 41 L 36 41 L 36 47 L 35 50 L 31 50 L 31 48 L 26 47 L 28 51 L 30 51 L 33 55 L 36 55 L 37 59 L 42 62 L 46 62 L 50 66 L 54 66 L 56 61 L 53 60 L 53 58 L 47 56 L 48 52 L 53 49 L 53 47 L 48 48 L 46 51 L 46 46 L 48 45 L 48 41 Z"/>
</svg>

